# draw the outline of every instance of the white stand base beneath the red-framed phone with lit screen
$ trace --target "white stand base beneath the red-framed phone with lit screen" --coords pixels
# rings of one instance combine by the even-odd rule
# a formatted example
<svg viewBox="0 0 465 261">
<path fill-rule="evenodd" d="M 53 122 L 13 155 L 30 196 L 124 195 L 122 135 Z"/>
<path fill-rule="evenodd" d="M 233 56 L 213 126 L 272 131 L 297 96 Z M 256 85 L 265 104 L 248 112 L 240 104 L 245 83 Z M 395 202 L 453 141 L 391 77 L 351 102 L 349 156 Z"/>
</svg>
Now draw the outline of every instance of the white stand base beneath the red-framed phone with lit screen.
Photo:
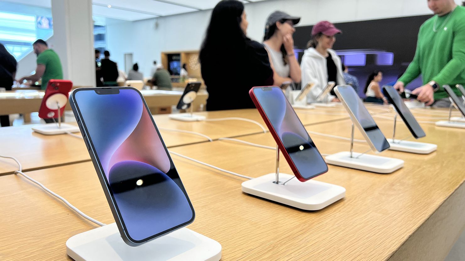
<svg viewBox="0 0 465 261">
<path fill-rule="evenodd" d="M 279 173 L 283 182 L 292 177 L 294 175 Z M 273 181 L 275 173 L 253 178 L 242 183 L 242 191 L 302 210 L 320 210 L 345 197 L 345 188 L 321 181 L 300 182 L 294 178 L 286 185 L 277 185 Z"/>
</svg>

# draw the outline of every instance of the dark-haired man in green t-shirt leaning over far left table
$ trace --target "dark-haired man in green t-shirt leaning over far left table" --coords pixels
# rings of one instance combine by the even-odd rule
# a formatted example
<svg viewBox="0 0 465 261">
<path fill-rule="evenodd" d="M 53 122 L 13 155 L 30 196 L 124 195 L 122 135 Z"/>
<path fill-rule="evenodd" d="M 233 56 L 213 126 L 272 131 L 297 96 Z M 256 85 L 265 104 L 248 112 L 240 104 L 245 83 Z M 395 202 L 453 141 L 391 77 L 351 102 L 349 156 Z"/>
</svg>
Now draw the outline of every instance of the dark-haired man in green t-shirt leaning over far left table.
<svg viewBox="0 0 465 261">
<path fill-rule="evenodd" d="M 61 69 L 60 57 L 52 49 L 48 49 L 46 41 L 38 39 L 33 43 L 34 53 L 37 55 L 37 68 L 31 76 L 22 77 L 19 82 L 24 80 L 37 82 L 42 78 L 40 89 L 45 90 L 50 79 L 63 79 L 63 70 Z"/>
</svg>

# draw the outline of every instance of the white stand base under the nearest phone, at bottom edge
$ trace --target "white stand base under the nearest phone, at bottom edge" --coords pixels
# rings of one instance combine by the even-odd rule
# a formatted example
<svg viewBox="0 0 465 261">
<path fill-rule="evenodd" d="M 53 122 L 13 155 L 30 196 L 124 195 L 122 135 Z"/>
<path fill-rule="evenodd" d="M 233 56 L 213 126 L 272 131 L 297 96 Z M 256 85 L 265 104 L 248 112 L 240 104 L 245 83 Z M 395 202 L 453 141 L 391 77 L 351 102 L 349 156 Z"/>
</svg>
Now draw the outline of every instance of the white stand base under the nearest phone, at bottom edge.
<svg viewBox="0 0 465 261">
<path fill-rule="evenodd" d="M 138 247 L 121 239 L 116 223 L 72 236 L 66 254 L 75 261 L 219 261 L 221 245 L 187 228 Z"/>
</svg>

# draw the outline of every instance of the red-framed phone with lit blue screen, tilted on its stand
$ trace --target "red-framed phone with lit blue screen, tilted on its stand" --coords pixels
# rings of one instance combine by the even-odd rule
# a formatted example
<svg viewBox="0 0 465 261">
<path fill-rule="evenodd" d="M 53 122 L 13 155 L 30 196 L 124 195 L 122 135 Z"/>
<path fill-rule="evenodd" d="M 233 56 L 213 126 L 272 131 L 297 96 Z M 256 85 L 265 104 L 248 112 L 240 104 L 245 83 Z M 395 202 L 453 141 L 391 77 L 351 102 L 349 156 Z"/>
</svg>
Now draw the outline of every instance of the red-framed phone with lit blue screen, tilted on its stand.
<svg viewBox="0 0 465 261">
<path fill-rule="evenodd" d="M 305 179 L 328 171 L 325 160 L 302 125 L 299 117 L 278 87 L 253 88 L 253 93 L 279 140 Z"/>
</svg>

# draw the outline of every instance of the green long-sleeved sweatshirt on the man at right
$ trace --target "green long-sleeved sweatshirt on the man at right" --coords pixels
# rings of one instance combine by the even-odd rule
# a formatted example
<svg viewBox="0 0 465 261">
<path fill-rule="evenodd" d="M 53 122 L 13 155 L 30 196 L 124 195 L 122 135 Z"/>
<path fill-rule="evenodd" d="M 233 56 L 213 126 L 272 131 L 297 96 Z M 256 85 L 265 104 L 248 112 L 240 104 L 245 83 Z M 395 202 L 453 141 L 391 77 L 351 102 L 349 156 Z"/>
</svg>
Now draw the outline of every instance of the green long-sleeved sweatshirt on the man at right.
<svg viewBox="0 0 465 261">
<path fill-rule="evenodd" d="M 433 27 L 436 21 L 437 32 Z M 455 84 L 465 85 L 465 7 L 457 6 L 452 13 L 425 21 L 418 34 L 417 51 L 399 82 L 405 85 L 422 75 L 423 84 L 435 81 L 440 89 L 434 99 L 448 97 L 442 88 L 448 84 L 457 95 Z"/>
</svg>

